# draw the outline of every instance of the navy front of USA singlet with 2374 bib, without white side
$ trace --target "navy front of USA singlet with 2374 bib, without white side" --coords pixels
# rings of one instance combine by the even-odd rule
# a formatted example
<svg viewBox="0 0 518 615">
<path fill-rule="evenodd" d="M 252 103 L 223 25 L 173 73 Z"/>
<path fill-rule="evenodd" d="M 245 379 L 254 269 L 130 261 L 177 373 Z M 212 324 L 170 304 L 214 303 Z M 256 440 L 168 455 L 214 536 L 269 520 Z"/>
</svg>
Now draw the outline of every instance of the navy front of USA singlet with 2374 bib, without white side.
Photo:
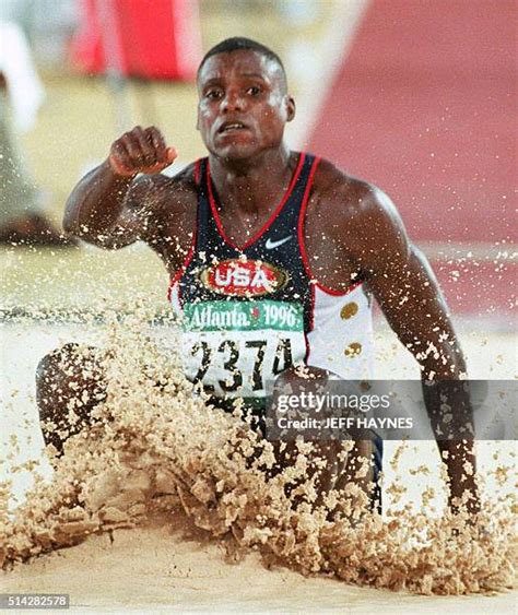
<svg viewBox="0 0 518 615">
<path fill-rule="evenodd" d="M 262 399 L 267 382 L 307 354 L 311 291 L 299 237 L 314 159 L 301 156 L 280 203 L 239 244 L 220 215 L 207 164 L 195 236 L 169 288 L 184 367 L 219 397 Z"/>
</svg>

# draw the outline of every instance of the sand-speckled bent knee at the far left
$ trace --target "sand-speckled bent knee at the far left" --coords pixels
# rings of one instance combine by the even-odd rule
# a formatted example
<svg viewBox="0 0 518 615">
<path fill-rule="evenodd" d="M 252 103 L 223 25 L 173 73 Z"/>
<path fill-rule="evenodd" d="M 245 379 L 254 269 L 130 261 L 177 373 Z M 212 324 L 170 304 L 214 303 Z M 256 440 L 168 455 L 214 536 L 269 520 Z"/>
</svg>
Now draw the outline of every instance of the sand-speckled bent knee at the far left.
<svg viewBox="0 0 518 615">
<path fill-rule="evenodd" d="M 66 344 L 46 355 L 36 371 L 36 402 L 45 443 L 61 452 L 64 440 L 91 424 L 92 410 L 106 399 L 103 353 Z"/>
</svg>

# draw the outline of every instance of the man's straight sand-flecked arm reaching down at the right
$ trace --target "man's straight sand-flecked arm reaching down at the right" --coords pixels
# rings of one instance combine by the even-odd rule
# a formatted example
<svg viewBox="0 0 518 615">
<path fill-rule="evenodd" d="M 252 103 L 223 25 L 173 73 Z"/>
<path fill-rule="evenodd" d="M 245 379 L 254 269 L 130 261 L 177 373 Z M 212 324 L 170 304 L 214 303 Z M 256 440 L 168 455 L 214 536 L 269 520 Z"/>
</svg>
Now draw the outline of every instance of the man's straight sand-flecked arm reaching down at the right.
<svg viewBox="0 0 518 615">
<path fill-rule="evenodd" d="M 438 382 L 435 394 L 425 394 L 437 445 L 446 463 L 450 481 L 451 510 L 456 498 L 466 496 L 470 512 L 479 510 L 474 477 L 475 457 L 473 439 L 438 437 L 444 419 L 440 392 L 454 391 L 451 380 L 466 377 L 466 362 L 459 340 L 448 315 L 437 280 L 424 255 L 409 240 L 401 217 L 390 199 L 380 190 L 360 182 L 353 211 L 348 215 L 348 252 L 379 303 L 390 327 L 404 346 L 414 355 L 422 370 L 423 391 L 429 390 L 424 381 Z M 354 241 L 351 240 L 354 238 Z M 444 381 L 448 381 L 444 383 Z M 442 385 L 443 383 L 443 385 Z M 444 388 L 442 388 L 442 386 Z M 455 398 L 458 413 L 471 424 L 471 406 L 462 392 Z M 462 407 L 460 407 L 462 406 Z M 455 412 L 455 407 L 454 407 Z M 466 423 L 463 424 L 466 425 Z M 444 436 L 443 436 L 444 437 Z"/>
</svg>

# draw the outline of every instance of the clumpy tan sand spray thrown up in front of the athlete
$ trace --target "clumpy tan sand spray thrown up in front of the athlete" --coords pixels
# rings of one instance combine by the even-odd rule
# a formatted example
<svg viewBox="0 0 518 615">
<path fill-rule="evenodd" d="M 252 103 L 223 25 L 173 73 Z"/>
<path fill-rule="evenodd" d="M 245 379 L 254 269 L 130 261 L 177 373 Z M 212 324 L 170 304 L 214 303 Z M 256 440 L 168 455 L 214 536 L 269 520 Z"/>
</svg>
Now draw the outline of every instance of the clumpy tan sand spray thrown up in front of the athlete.
<svg viewBox="0 0 518 615">
<path fill-rule="evenodd" d="M 516 518 L 508 499 L 484 501 L 474 528 L 410 507 L 381 518 L 353 486 L 315 506 L 315 476 L 302 481 L 310 445 L 299 443 L 289 470 L 269 473 L 271 443 L 238 416 L 208 409 L 177 354 L 143 332 L 141 315 L 108 320 L 114 352 L 105 359 L 98 423 L 70 438 L 51 483 L 39 481 L 13 513 L 9 485 L 1 488 L 2 568 L 155 513 L 167 523 L 181 511 L 208 537 L 224 540 L 233 559 L 257 549 L 266 564 L 305 575 L 426 594 L 511 587 Z M 78 410 L 71 405 L 72 416 Z M 398 481 L 385 489 L 395 501 L 404 497 Z M 423 496 L 425 512 L 432 496 Z"/>
</svg>

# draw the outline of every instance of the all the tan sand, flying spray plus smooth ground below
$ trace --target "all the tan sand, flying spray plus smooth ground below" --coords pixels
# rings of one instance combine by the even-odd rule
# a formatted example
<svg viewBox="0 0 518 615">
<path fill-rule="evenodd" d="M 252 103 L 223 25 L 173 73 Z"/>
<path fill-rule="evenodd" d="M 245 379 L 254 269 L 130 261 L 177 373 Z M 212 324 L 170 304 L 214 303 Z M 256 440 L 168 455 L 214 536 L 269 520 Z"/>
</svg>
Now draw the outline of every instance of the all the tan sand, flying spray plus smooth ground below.
<svg viewBox="0 0 518 615">
<path fill-rule="evenodd" d="M 452 542 L 447 519 L 419 513 L 367 519 L 360 527 L 331 523 L 321 512 L 309 512 L 310 487 L 304 492 L 308 506 L 293 509 L 282 482 L 267 485 L 257 465 L 244 463 L 250 440 L 233 419 L 200 412 L 201 402 L 179 377 L 163 390 L 152 386 L 162 372 L 175 371 L 174 357 L 157 355 L 150 340 L 131 331 L 134 327 L 123 332 L 123 358 L 111 366 L 119 385 L 107 402 L 111 427 L 72 441 L 54 485 L 40 485 L 3 523 L 7 568 L 39 555 L 3 573 L 7 591 L 69 592 L 74 607 L 93 610 L 173 605 L 368 613 L 382 605 L 392 612 L 510 612 L 508 494 L 501 490 L 486 502 L 495 531 L 482 541 L 466 535 Z M 117 335 L 111 342 L 122 347 Z M 151 379 L 138 369 L 145 357 L 154 359 Z M 429 442 L 420 445 L 420 463 L 433 460 Z M 263 454 L 266 463 L 268 451 Z M 488 449 L 486 458 L 492 454 Z M 415 453 L 410 450 L 404 459 L 415 462 Z M 503 477 L 507 486 L 509 481 Z M 426 483 L 426 476 L 419 482 Z M 435 490 L 440 500 L 440 482 Z M 131 525 L 138 527 L 126 529 Z M 423 531 L 432 548 L 415 547 Z M 81 544 L 61 548 L 72 543 Z M 237 556 L 238 564 L 225 561 Z M 499 594 L 416 596 L 384 588 Z"/>
</svg>

